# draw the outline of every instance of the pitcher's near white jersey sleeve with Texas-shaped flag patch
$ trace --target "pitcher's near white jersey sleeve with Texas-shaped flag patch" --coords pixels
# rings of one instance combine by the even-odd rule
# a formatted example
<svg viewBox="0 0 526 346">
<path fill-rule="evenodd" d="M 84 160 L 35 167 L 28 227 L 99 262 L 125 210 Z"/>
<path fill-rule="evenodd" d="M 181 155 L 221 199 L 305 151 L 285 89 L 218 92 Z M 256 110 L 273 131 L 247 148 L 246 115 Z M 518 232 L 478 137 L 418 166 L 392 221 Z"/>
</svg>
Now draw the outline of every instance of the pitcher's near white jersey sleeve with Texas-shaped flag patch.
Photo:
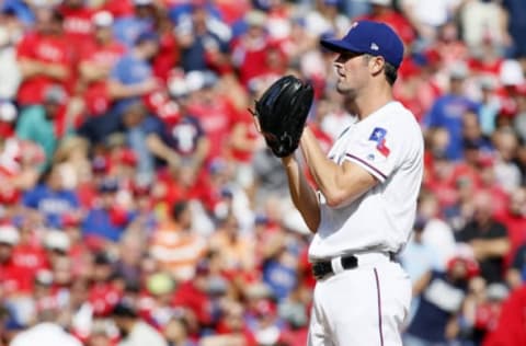
<svg viewBox="0 0 526 346">
<path fill-rule="evenodd" d="M 376 126 L 353 134 L 344 160 L 352 161 L 373 174 L 379 182 L 388 180 L 397 165 L 400 146 L 392 128 Z"/>
</svg>

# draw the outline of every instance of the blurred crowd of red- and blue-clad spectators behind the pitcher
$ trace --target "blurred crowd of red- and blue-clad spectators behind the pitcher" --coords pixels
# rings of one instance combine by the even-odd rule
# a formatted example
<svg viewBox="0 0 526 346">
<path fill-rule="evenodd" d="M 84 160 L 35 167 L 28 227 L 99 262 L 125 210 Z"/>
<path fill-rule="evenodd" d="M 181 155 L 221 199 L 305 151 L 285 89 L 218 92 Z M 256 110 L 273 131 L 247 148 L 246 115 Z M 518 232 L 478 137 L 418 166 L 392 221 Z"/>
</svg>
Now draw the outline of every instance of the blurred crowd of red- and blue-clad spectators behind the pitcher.
<svg viewBox="0 0 526 346">
<path fill-rule="evenodd" d="M 524 0 L 0 10 L 0 345 L 306 345 L 310 235 L 248 108 L 308 80 L 328 150 L 353 107 L 319 39 L 355 20 L 402 37 L 426 142 L 404 345 L 526 345 Z"/>
</svg>

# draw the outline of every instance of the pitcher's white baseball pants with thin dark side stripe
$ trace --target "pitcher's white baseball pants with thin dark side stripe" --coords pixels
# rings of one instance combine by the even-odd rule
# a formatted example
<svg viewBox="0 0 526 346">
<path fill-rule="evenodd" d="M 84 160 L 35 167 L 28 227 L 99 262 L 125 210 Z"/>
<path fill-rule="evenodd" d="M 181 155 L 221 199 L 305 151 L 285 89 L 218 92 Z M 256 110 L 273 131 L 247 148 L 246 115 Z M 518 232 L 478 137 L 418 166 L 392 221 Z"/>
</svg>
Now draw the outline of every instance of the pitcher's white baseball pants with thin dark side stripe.
<svg viewBox="0 0 526 346">
<path fill-rule="evenodd" d="M 401 346 L 411 281 L 381 253 L 356 255 L 358 266 L 316 284 L 309 346 Z"/>
</svg>

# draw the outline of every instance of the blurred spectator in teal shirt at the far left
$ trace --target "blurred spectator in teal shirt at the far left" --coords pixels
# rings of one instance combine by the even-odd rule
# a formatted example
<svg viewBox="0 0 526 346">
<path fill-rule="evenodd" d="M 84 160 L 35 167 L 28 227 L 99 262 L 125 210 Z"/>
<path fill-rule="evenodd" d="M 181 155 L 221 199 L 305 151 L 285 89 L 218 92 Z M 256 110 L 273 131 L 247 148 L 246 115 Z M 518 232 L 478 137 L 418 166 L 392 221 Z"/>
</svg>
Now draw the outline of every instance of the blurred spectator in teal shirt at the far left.
<svg viewBox="0 0 526 346">
<path fill-rule="evenodd" d="M 46 154 L 43 169 L 48 168 L 60 138 L 71 131 L 66 119 L 66 91 L 58 84 L 44 91 L 42 105 L 23 108 L 16 122 L 16 136 L 42 147 Z"/>
</svg>

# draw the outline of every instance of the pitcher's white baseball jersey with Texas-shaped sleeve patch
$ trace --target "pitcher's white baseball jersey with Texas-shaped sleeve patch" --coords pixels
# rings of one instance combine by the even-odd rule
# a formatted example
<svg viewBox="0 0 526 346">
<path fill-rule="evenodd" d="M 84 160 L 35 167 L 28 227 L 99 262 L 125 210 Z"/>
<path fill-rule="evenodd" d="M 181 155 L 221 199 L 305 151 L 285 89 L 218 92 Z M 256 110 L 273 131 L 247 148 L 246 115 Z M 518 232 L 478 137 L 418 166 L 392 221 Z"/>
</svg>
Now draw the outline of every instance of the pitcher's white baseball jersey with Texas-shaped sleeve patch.
<svg viewBox="0 0 526 346">
<path fill-rule="evenodd" d="M 414 222 L 423 151 L 419 123 L 396 101 L 347 127 L 334 142 L 329 158 L 338 164 L 348 160 L 361 165 L 379 184 L 338 208 L 329 207 L 319 194 L 321 220 L 309 257 L 400 251 Z"/>
</svg>

